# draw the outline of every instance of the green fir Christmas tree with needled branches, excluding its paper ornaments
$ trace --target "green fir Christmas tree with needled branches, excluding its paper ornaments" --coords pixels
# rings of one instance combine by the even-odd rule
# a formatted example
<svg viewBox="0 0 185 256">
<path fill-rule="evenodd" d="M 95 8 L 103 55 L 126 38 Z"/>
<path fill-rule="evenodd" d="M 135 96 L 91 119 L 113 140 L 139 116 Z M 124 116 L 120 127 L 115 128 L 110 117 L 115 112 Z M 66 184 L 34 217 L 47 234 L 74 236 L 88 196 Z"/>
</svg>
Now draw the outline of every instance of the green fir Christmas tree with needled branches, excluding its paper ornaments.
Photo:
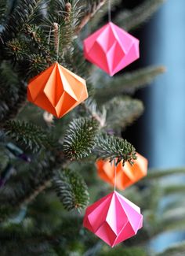
<svg viewBox="0 0 185 256">
<path fill-rule="evenodd" d="M 137 236 L 111 249 L 82 227 L 89 201 L 113 190 L 97 176 L 96 160 L 136 161 L 134 145 L 122 139 L 122 131 L 143 113 L 134 92 L 165 72 L 150 66 L 110 77 L 85 61 L 82 40 L 105 23 L 107 2 L 0 2 L 1 255 L 147 256 L 154 236 L 184 228 L 183 212 L 176 216 L 181 196 L 176 206 L 158 213 L 165 195 L 184 191 L 160 180 L 184 169 L 151 170 L 120 192 L 142 210 L 144 226 Z M 129 32 L 163 2 L 145 0 L 128 10 L 115 0 L 112 19 Z M 27 102 L 29 81 L 56 61 L 85 79 L 89 91 L 89 98 L 61 119 Z M 183 255 L 184 250 L 180 243 L 154 255 Z"/>
</svg>

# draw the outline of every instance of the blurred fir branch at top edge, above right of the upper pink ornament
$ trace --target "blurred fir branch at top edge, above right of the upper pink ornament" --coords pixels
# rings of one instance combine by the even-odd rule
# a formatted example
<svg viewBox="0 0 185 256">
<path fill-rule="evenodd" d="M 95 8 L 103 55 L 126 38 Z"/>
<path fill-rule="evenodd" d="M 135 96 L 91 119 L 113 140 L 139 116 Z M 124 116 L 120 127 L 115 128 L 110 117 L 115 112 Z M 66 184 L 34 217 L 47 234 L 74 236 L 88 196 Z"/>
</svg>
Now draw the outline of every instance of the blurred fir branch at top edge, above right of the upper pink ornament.
<svg viewBox="0 0 185 256">
<path fill-rule="evenodd" d="M 115 19 L 116 24 L 123 26 L 127 31 L 135 29 L 146 22 L 165 0 L 145 0 L 132 11 L 121 11 Z"/>
</svg>

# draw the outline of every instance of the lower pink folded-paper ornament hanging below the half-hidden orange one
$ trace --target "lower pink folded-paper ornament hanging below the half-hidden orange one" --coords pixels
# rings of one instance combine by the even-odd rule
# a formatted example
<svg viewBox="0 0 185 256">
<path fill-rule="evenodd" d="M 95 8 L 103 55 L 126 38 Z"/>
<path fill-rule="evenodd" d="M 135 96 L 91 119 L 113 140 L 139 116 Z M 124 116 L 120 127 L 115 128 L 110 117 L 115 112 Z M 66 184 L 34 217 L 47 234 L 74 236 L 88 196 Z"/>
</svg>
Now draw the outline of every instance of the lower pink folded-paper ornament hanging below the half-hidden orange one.
<svg viewBox="0 0 185 256">
<path fill-rule="evenodd" d="M 111 247 L 135 236 L 143 227 L 140 208 L 114 191 L 85 211 L 84 227 Z"/>
</svg>

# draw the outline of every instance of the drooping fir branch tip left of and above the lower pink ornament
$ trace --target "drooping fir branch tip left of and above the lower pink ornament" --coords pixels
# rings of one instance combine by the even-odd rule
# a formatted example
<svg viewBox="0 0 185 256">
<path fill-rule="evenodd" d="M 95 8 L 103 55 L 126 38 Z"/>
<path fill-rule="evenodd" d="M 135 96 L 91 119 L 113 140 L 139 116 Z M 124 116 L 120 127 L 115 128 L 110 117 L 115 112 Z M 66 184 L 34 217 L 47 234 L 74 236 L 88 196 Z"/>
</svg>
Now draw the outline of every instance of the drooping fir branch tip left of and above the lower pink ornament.
<svg viewBox="0 0 185 256">
<path fill-rule="evenodd" d="M 82 210 L 89 203 L 88 187 L 79 173 L 65 169 L 53 179 L 56 194 L 66 210 Z"/>
</svg>

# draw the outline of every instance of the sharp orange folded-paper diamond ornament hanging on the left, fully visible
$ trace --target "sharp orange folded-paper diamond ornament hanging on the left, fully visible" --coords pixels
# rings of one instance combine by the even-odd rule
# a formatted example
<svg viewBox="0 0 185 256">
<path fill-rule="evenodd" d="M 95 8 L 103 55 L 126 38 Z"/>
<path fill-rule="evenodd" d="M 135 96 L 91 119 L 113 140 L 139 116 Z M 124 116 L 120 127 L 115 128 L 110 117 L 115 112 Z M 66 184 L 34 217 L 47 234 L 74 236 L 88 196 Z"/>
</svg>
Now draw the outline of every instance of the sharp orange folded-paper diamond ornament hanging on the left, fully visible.
<svg viewBox="0 0 185 256">
<path fill-rule="evenodd" d="M 85 80 L 57 62 L 35 76 L 27 86 L 27 99 L 35 105 L 63 117 L 88 98 Z"/>
</svg>

